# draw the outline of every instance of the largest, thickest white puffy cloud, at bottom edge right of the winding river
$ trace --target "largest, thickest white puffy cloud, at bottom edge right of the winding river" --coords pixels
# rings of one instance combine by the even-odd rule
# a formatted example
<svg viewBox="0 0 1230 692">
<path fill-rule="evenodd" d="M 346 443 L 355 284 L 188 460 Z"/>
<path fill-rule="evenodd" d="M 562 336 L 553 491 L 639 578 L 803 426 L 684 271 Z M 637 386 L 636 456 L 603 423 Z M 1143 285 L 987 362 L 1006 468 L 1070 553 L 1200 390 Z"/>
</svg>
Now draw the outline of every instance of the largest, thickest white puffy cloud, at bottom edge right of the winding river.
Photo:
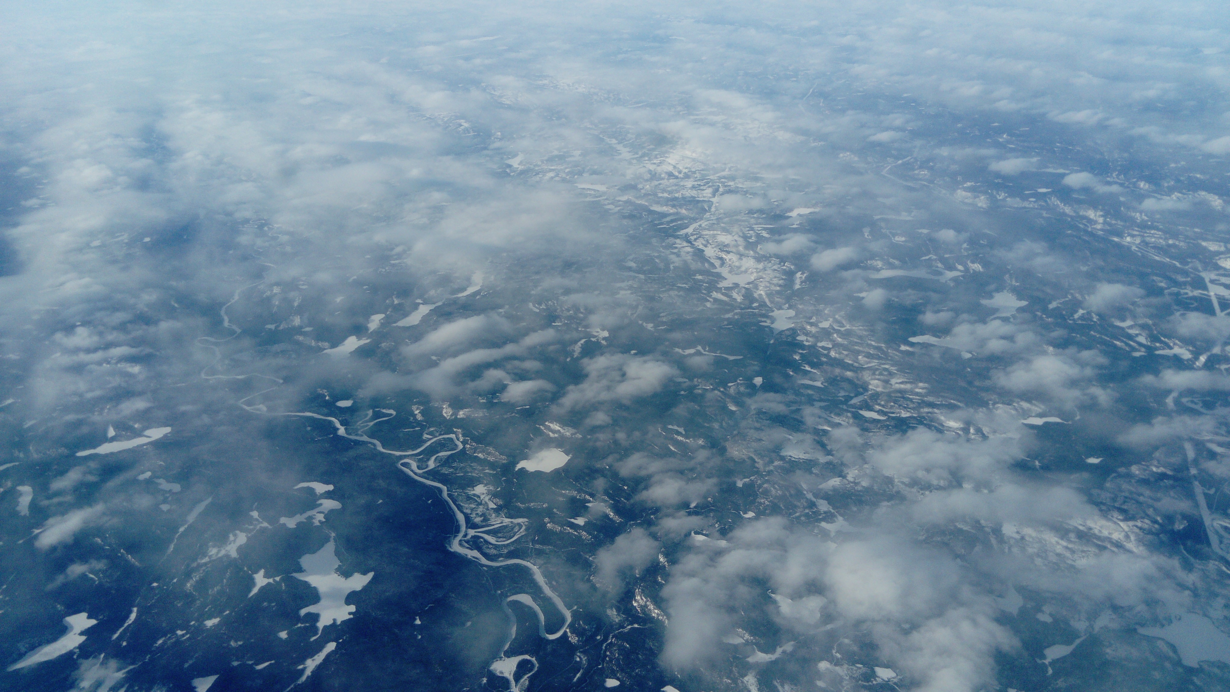
<svg viewBox="0 0 1230 692">
<path fill-rule="evenodd" d="M 755 582 L 771 587 L 771 601 L 755 596 Z M 921 688 L 977 690 L 994 677 L 994 655 L 1018 643 L 994 621 L 991 600 L 963 595 L 962 582 L 951 557 L 894 538 L 834 545 L 781 520 L 750 522 L 722 539 L 695 542 L 672 568 L 663 589 L 670 616 L 663 661 L 684 670 L 705 665 L 743 640 L 734 634 L 738 613 L 754 610 L 812 632 L 825 622 L 863 623 L 882 659 Z M 768 645 L 781 650 L 774 640 Z"/>
</svg>

